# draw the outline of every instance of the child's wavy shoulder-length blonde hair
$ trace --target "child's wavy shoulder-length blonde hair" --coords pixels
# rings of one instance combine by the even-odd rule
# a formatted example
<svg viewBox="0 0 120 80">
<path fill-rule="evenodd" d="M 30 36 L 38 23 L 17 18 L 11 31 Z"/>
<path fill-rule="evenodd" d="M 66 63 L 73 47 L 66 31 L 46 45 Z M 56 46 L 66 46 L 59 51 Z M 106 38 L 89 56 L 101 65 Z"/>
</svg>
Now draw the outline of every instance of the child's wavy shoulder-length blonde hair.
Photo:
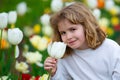
<svg viewBox="0 0 120 80">
<path fill-rule="evenodd" d="M 50 23 L 54 31 L 53 41 L 62 41 L 58 31 L 58 23 L 64 19 L 73 24 L 83 25 L 87 44 L 92 49 L 100 46 L 106 37 L 106 34 L 100 29 L 91 11 L 84 4 L 76 2 L 64 7 L 51 17 Z M 67 47 L 66 54 L 70 54 L 71 51 Z"/>
</svg>

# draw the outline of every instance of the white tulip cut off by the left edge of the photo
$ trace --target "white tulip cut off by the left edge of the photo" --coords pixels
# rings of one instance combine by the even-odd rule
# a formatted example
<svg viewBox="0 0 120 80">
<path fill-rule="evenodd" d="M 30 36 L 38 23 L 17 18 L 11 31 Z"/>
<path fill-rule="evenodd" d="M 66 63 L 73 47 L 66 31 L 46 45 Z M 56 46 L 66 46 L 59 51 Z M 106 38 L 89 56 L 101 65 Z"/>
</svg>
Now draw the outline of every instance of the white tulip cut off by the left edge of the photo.
<svg viewBox="0 0 120 80">
<path fill-rule="evenodd" d="M 8 23 L 8 14 L 5 12 L 0 13 L 0 29 L 6 28 L 7 23 Z"/>
</svg>

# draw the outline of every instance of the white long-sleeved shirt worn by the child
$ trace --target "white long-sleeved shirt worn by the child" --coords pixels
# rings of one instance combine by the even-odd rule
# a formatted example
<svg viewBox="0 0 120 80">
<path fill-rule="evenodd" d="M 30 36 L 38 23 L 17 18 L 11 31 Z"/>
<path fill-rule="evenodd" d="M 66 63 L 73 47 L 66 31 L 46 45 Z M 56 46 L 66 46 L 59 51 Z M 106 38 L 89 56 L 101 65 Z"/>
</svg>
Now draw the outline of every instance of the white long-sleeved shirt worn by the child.
<svg viewBox="0 0 120 80">
<path fill-rule="evenodd" d="M 95 50 L 74 50 L 58 60 L 51 80 L 120 80 L 120 46 L 105 39 Z"/>
</svg>

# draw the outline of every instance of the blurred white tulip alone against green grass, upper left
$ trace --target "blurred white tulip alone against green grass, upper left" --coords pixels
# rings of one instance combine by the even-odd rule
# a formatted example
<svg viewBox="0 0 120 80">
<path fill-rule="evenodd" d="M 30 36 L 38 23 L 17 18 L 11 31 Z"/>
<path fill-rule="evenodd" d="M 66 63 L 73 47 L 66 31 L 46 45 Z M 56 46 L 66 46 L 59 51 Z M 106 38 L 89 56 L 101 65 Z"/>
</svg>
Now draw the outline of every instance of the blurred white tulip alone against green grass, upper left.
<svg viewBox="0 0 120 80">
<path fill-rule="evenodd" d="M 18 15 L 23 16 L 27 12 L 27 4 L 25 2 L 21 2 L 17 5 L 17 13 Z"/>
</svg>

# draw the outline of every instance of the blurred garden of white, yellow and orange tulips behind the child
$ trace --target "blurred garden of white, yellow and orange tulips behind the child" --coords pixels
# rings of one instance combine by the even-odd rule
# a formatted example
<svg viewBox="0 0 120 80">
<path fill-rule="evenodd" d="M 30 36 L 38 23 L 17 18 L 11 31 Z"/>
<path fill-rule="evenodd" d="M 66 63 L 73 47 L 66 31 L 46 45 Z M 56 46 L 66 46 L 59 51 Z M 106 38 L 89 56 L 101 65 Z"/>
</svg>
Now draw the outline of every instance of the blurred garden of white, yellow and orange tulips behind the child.
<svg viewBox="0 0 120 80">
<path fill-rule="evenodd" d="M 0 0 L 0 13 L 11 11 L 17 13 L 16 21 L 9 22 L 7 28 L 3 29 L 0 77 L 10 76 L 15 80 L 14 78 L 18 79 L 23 74 L 28 74 L 32 78 L 47 74 L 43 63 L 48 57 L 47 45 L 52 36 L 50 16 L 74 1 L 80 1 L 88 6 L 107 37 L 120 44 L 120 0 Z M 24 35 L 18 45 L 20 50 L 18 58 L 13 57 L 13 45 L 7 40 L 9 28 L 19 28 Z"/>
</svg>

